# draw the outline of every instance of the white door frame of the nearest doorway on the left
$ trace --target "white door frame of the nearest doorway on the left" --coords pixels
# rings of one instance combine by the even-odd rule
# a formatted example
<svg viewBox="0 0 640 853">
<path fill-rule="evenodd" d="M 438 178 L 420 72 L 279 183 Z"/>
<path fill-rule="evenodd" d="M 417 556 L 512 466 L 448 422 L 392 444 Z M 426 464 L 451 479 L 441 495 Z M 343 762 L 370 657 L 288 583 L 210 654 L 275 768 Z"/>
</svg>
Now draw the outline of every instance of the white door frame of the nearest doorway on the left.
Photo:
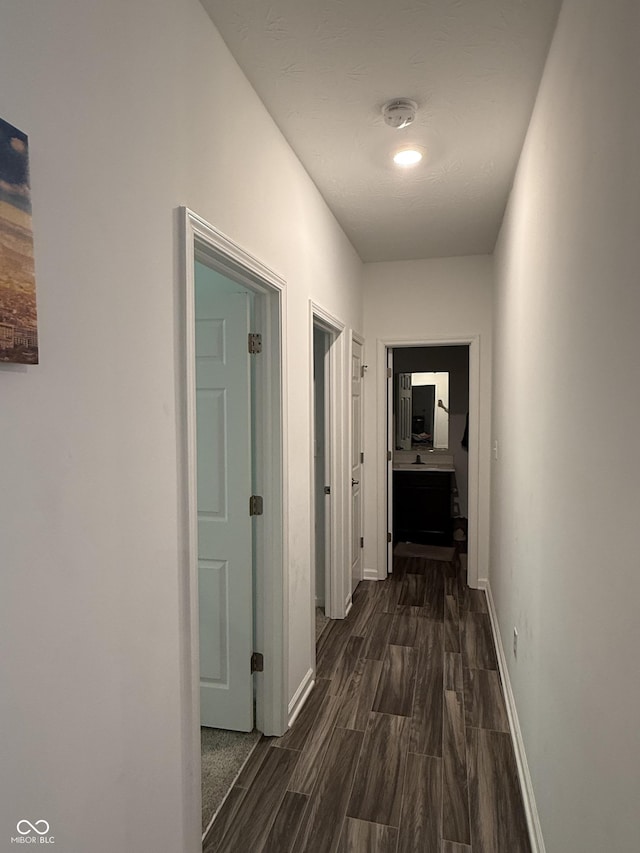
<svg viewBox="0 0 640 853">
<path fill-rule="evenodd" d="M 255 676 L 256 727 L 265 734 L 287 729 L 288 580 L 286 530 L 286 446 L 283 418 L 286 340 L 285 282 L 232 240 L 186 207 L 179 208 L 181 286 L 177 315 L 176 397 L 180 484 L 180 637 L 183 808 L 185 851 L 202 849 L 200 781 L 200 662 L 198 630 L 198 531 L 195 404 L 195 259 L 256 294 L 256 324 L 263 334 L 256 362 L 256 479 L 265 514 L 256 519 L 255 648 L 264 654 L 264 672 Z M 247 512 L 248 512 L 247 505 Z"/>
</svg>

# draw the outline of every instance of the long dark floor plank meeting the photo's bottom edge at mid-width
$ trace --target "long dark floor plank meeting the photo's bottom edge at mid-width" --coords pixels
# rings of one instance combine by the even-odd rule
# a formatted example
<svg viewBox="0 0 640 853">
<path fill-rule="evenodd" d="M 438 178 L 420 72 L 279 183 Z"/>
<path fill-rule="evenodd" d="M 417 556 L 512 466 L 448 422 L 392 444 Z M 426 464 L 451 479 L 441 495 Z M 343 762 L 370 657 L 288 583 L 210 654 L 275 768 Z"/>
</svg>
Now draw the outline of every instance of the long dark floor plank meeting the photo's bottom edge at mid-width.
<svg viewBox="0 0 640 853">
<path fill-rule="evenodd" d="M 302 819 L 293 850 L 298 853 L 335 851 L 349 801 L 364 735 L 335 729 L 320 767 L 318 781 Z M 336 781 L 340 780 L 340 784 Z"/>
</svg>

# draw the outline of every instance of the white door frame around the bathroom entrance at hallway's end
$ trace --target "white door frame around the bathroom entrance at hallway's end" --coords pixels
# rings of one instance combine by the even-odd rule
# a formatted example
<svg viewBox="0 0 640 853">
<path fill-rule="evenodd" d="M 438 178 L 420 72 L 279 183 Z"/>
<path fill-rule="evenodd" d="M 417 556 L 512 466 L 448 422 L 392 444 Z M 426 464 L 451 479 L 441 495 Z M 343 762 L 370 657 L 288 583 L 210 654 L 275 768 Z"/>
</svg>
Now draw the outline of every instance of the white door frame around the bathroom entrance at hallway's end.
<svg viewBox="0 0 640 853">
<path fill-rule="evenodd" d="M 479 559 L 479 528 L 480 519 L 480 336 L 465 335 L 461 337 L 431 336 L 426 339 L 416 340 L 414 338 L 378 339 L 378 377 L 379 393 L 378 399 L 388 401 L 387 386 L 387 350 L 399 347 L 446 347 L 446 346 L 468 346 L 469 347 L 469 528 L 467 531 L 467 579 L 471 587 L 478 586 L 478 559 Z M 388 424 L 388 402 L 379 407 L 378 411 L 378 482 L 386 483 L 387 487 L 381 489 L 378 495 L 378 565 L 380 566 L 379 577 L 384 579 L 387 573 L 387 519 L 388 500 L 391 484 L 387 477 L 387 451 L 392 450 L 387 437 Z"/>
</svg>

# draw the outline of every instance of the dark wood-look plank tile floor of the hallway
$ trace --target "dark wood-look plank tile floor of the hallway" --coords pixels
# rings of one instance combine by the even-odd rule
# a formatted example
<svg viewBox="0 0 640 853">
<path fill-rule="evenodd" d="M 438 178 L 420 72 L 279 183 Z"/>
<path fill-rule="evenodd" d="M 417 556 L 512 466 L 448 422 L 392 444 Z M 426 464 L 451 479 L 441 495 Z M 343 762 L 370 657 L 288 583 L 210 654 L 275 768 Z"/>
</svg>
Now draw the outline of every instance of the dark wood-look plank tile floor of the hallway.
<svg viewBox="0 0 640 853">
<path fill-rule="evenodd" d="M 290 731 L 263 738 L 204 853 L 531 853 L 484 593 L 396 558 L 317 649 Z"/>
</svg>

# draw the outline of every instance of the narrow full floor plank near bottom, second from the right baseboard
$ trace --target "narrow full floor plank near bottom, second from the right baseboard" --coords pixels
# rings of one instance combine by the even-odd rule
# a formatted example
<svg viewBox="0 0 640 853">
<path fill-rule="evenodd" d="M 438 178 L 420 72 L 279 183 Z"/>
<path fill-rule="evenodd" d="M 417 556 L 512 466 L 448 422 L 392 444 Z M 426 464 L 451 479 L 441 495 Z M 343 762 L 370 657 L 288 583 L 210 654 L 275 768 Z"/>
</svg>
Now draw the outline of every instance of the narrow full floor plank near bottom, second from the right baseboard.
<svg viewBox="0 0 640 853">
<path fill-rule="evenodd" d="M 445 690 L 442 835 L 447 841 L 460 844 L 471 844 L 466 752 L 462 693 Z"/>
</svg>

